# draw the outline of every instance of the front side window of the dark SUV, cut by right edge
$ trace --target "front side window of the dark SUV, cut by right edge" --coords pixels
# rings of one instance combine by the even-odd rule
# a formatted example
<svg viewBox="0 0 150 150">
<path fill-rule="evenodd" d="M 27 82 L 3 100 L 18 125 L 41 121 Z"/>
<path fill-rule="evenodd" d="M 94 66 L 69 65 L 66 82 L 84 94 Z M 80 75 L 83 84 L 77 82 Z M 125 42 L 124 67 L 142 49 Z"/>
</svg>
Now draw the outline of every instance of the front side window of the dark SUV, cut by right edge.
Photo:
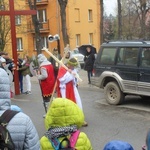
<svg viewBox="0 0 150 150">
<path fill-rule="evenodd" d="M 142 50 L 142 67 L 150 67 L 150 49 L 145 48 Z"/>
</svg>

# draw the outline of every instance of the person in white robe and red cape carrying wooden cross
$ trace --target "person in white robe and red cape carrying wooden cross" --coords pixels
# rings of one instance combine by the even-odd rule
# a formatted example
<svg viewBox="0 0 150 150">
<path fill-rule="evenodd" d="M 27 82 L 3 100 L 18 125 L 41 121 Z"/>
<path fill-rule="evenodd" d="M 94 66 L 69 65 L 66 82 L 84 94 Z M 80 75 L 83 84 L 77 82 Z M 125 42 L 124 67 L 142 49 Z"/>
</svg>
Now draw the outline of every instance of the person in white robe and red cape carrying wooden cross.
<svg viewBox="0 0 150 150">
<path fill-rule="evenodd" d="M 67 63 L 68 70 L 64 67 L 59 68 L 57 76 L 57 96 L 67 98 L 76 103 L 83 111 L 81 98 L 77 89 L 77 70 L 78 62 L 75 58 L 70 58 Z M 87 126 L 84 122 L 83 126 Z"/>
</svg>

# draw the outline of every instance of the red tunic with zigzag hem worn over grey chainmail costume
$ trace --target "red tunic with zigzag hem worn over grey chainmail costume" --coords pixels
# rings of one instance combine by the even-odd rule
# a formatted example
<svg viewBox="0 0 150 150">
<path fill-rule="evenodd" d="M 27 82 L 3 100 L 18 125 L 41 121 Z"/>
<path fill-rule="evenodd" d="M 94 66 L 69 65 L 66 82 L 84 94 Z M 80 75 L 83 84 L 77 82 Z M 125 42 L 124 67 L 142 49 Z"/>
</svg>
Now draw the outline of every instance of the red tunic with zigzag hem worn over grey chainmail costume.
<svg viewBox="0 0 150 150">
<path fill-rule="evenodd" d="M 42 95 L 44 97 L 52 95 L 54 84 L 55 84 L 55 76 L 54 76 L 54 68 L 51 64 L 43 65 L 42 68 L 46 68 L 48 77 L 44 80 L 41 80 L 41 90 Z"/>
</svg>

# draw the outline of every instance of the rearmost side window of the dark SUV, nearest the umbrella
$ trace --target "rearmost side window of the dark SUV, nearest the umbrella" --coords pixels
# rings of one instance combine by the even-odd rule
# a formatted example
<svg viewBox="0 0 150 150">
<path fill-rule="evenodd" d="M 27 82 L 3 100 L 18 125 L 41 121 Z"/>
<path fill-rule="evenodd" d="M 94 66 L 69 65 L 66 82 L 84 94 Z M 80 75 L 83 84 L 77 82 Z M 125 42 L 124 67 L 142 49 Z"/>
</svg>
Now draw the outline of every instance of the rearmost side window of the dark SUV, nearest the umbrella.
<svg viewBox="0 0 150 150">
<path fill-rule="evenodd" d="M 102 55 L 100 58 L 101 64 L 110 65 L 114 64 L 116 48 L 103 48 Z"/>
</svg>

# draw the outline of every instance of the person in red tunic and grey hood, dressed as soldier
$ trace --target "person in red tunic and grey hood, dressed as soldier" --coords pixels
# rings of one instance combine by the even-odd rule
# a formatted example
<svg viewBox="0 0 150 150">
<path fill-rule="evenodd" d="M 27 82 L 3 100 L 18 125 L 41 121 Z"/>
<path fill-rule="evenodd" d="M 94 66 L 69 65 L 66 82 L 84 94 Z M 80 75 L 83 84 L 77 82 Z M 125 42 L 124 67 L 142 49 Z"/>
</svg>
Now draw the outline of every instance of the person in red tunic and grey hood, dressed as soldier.
<svg viewBox="0 0 150 150">
<path fill-rule="evenodd" d="M 37 78 L 40 81 L 40 87 L 43 97 L 45 111 L 50 102 L 51 95 L 55 84 L 54 68 L 43 54 L 38 55 L 39 71 Z"/>
</svg>

